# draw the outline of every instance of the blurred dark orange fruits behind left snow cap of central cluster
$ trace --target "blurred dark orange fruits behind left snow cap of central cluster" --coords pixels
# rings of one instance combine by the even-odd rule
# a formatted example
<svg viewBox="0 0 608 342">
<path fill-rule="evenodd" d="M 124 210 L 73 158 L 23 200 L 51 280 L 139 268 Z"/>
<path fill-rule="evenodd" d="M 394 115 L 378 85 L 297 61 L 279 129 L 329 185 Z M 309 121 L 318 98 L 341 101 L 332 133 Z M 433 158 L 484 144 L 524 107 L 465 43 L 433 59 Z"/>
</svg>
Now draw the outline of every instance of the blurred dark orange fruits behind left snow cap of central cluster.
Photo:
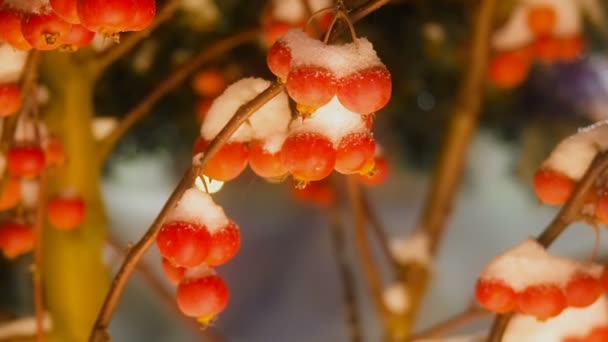
<svg viewBox="0 0 608 342">
<path fill-rule="evenodd" d="M 202 122 L 213 100 L 226 88 L 224 74 L 218 69 L 201 70 L 192 80 L 192 89 L 199 96 L 195 108 L 197 119 Z"/>
</svg>

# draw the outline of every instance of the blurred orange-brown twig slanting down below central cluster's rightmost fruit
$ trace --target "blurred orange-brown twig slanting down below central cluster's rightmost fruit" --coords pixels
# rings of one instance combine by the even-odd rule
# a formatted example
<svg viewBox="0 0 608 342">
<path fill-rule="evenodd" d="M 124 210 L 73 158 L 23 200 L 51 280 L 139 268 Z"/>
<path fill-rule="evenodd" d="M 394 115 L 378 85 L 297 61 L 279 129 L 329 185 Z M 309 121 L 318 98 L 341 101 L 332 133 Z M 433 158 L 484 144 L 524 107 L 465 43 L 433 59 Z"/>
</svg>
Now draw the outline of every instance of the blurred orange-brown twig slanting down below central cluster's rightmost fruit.
<svg viewBox="0 0 608 342">
<path fill-rule="evenodd" d="M 355 244 L 363 267 L 363 272 L 367 281 L 367 286 L 371 293 L 371 298 L 378 315 L 385 319 L 388 317 L 388 310 L 382 299 L 382 278 L 379 267 L 374 260 L 369 238 L 365 229 L 365 213 L 361 201 L 361 186 L 355 177 L 347 177 L 348 195 L 353 215 L 353 226 L 355 229 Z"/>
</svg>

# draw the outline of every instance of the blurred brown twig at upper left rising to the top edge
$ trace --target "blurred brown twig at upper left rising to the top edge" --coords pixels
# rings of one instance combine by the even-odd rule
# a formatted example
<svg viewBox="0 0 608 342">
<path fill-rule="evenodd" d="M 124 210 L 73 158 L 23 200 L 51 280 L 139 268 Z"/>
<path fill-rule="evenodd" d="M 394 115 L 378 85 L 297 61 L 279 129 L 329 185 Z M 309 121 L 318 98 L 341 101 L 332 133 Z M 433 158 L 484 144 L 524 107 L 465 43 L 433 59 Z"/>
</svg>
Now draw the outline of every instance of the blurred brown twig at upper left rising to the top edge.
<svg viewBox="0 0 608 342">
<path fill-rule="evenodd" d="M 165 6 L 156 14 L 154 21 L 148 28 L 143 31 L 129 33 L 125 39 L 119 44 L 111 46 L 100 54 L 91 56 L 89 68 L 93 71 L 95 77 L 99 77 L 112 63 L 126 55 L 142 40 L 146 39 L 154 32 L 161 24 L 173 17 L 175 11 L 179 8 L 181 0 L 169 0 Z"/>
</svg>

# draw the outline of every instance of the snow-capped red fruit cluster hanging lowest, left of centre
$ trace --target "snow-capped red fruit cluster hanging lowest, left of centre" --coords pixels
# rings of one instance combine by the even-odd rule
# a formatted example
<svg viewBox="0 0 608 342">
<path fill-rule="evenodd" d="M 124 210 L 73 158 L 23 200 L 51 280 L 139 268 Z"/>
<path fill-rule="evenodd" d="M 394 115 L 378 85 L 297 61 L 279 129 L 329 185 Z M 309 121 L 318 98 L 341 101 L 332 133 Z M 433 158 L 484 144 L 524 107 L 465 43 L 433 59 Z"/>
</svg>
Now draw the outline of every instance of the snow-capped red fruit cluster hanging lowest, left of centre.
<svg viewBox="0 0 608 342">
<path fill-rule="evenodd" d="M 177 304 L 188 317 L 208 323 L 228 304 L 228 287 L 212 267 L 238 252 L 241 235 L 209 194 L 190 188 L 161 227 L 156 243 L 163 269 L 177 284 Z"/>
</svg>

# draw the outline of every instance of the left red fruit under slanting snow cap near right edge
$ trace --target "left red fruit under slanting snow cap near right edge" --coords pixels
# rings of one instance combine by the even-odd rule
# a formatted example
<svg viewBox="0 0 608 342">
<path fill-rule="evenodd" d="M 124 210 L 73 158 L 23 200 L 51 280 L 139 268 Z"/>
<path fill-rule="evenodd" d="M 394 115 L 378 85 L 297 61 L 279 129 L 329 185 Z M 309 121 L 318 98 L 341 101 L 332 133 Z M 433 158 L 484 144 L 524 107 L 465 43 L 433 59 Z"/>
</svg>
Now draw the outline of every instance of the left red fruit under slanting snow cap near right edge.
<svg viewBox="0 0 608 342">
<path fill-rule="evenodd" d="M 534 175 L 534 192 L 545 204 L 562 205 L 566 203 L 575 183 L 568 176 L 550 169 L 540 169 Z"/>
</svg>

